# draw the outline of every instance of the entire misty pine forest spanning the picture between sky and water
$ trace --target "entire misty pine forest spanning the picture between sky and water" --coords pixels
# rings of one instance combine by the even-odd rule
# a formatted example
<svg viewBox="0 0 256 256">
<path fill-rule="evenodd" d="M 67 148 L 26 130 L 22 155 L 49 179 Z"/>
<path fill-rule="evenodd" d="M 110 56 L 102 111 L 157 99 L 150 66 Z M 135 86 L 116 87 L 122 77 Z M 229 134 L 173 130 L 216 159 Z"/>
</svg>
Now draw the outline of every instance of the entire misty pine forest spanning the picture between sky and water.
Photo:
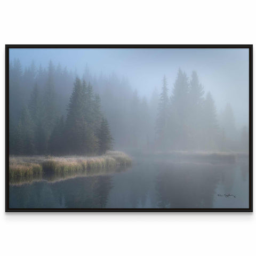
<svg viewBox="0 0 256 256">
<path fill-rule="evenodd" d="M 9 70 L 10 154 L 102 154 L 106 129 L 118 150 L 247 150 L 248 128 L 236 128 L 230 105 L 217 113 L 196 72 L 179 70 L 173 86 L 164 78 L 146 98 L 128 79 L 88 66 L 81 80 L 52 61 L 24 69 L 14 59 Z"/>
</svg>

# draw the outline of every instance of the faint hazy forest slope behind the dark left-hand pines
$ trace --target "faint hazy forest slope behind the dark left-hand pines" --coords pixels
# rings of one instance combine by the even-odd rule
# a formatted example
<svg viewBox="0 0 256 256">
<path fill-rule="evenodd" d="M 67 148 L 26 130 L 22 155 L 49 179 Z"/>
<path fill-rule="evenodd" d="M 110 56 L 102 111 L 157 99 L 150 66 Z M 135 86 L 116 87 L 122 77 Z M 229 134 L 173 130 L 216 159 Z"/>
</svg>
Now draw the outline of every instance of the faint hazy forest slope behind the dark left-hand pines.
<svg viewBox="0 0 256 256">
<path fill-rule="evenodd" d="M 10 62 L 9 74 L 10 148 L 14 149 L 10 152 L 14 154 L 15 133 L 21 117 L 21 110 L 23 106 L 28 105 L 35 84 L 41 94 L 42 104 L 49 109 L 54 109 L 53 112 L 50 111 L 49 115 L 53 115 L 55 112 L 54 115 L 58 119 L 63 115 L 63 121 L 65 121 L 68 114 L 69 97 L 73 92 L 73 84 L 78 75 L 76 71 L 68 70 L 60 64 L 54 65 L 53 62 L 49 62 L 48 68 L 44 68 L 42 65 L 36 66 L 35 62 L 31 62 L 24 68 L 18 59 Z M 46 92 L 49 77 L 53 83 L 52 91 L 55 98 L 55 101 L 52 101 L 52 107 L 45 103 L 49 100 L 46 97 L 49 94 Z M 153 145 L 157 91 L 154 91 L 152 100 L 148 101 L 146 97 L 140 97 L 138 92 L 132 89 L 127 78 L 119 77 L 115 73 L 93 75 L 87 65 L 82 73 L 81 81 L 90 82 L 93 85 L 94 94 L 100 95 L 101 106 L 104 109 L 105 118 L 108 120 L 111 135 L 115 139 L 117 150 L 141 150 L 148 148 L 148 145 Z M 50 116 L 49 118 L 52 119 Z"/>
</svg>

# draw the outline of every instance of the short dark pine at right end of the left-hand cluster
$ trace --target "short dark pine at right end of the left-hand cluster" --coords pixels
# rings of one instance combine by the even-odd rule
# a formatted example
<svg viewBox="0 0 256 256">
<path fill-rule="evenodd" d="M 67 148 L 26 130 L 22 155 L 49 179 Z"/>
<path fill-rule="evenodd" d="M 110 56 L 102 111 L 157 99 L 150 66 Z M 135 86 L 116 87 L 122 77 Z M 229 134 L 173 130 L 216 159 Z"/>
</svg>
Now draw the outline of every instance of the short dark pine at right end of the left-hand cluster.
<svg viewBox="0 0 256 256">
<path fill-rule="evenodd" d="M 109 130 L 108 121 L 106 118 L 101 119 L 99 131 L 99 154 L 105 154 L 107 150 L 113 147 L 113 138 Z"/>
</svg>

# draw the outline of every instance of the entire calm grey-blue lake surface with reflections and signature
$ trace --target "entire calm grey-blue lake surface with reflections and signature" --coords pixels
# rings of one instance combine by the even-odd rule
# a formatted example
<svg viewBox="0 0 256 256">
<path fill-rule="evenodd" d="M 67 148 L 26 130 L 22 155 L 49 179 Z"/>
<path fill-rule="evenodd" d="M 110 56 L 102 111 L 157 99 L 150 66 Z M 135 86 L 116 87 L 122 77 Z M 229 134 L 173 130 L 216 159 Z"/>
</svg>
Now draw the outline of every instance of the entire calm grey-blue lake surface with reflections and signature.
<svg viewBox="0 0 256 256">
<path fill-rule="evenodd" d="M 133 157 L 125 170 L 9 187 L 10 208 L 248 208 L 249 164 Z"/>
</svg>

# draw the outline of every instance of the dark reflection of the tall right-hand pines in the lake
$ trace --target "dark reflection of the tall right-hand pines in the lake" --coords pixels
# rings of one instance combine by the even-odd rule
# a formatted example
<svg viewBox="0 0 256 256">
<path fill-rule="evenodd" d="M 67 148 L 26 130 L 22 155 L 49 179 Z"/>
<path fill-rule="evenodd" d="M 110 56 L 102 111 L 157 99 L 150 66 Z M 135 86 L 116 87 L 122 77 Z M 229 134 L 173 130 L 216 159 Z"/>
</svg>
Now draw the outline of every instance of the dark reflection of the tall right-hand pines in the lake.
<svg viewBox="0 0 256 256">
<path fill-rule="evenodd" d="M 227 167 L 227 166 L 226 166 Z M 219 181 L 211 164 L 172 164 L 156 179 L 157 206 L 161 208 L 211 208 Z"/>
</svg>

